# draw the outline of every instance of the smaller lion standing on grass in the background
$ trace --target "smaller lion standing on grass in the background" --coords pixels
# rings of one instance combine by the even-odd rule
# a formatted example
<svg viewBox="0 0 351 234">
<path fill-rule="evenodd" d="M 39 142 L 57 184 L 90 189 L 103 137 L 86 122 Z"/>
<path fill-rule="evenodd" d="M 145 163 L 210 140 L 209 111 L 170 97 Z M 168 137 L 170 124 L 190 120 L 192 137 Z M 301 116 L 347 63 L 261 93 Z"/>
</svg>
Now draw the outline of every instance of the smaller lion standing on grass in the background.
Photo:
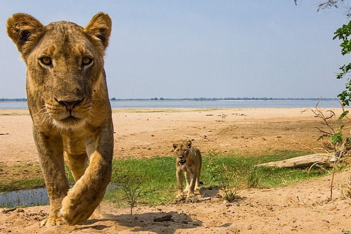
<svg viewBox="0 0 351 234">
<path fill-rule="evenodd" d="M 192 142 L 188 141 L 186 144 L 173 144 L 177 160 L 175 166 L 177 167 L 177 197 L 183 197 L 184 192 L 187 192 L 187 197 L 194 195 L 194 190 L 199 190 L 200 172 L 202 166 L 202 157 L 200 150 L 192 146 Z M 183 191 L 183 171 L 187 181 L 187 186 Z"/>
</svg>

